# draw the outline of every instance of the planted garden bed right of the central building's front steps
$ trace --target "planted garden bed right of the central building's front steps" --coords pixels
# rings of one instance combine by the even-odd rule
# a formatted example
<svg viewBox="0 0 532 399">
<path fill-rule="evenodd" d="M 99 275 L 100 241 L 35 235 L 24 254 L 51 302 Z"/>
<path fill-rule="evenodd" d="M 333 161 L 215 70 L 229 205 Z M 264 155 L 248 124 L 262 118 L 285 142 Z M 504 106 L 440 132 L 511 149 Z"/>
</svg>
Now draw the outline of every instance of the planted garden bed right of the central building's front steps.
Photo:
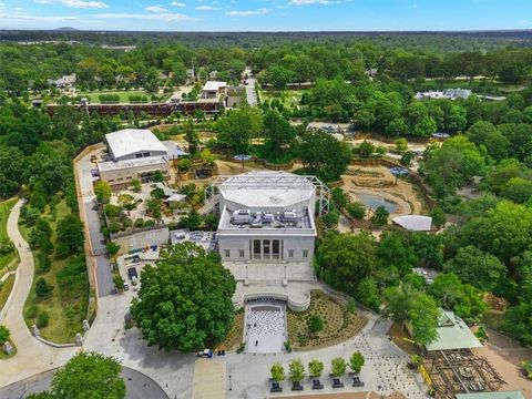
<svg viewBox="0 0 532 399">
<path fill-rule="evenodd" d="M 319 332 L 310 332 L 308 320 L 318 316 L 323 320 Z M 308 350 L 336 345 L 356 336 L 368 321 L 366 317 L 350 313 L 346 304 L 331 299 L 323 291 L 313 290 L 310 306 L 303 313 L 288 310 L 288 339 L 297 350 Z"/>
</svg>

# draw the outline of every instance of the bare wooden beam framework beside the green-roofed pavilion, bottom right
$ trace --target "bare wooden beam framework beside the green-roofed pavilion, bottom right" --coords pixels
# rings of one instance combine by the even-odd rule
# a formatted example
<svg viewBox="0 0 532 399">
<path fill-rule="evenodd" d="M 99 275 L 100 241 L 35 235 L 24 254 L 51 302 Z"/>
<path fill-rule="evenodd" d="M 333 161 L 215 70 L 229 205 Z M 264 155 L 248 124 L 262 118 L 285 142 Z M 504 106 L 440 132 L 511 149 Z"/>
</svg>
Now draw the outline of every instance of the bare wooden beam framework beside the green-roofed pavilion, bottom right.
<svg viewBox="0 0 532 399">
<path fill-rule="evenodd" d="M 436 398 L 454 399 L 456 393 L 492 392 L 505 381 L 484 357 L 470 350 L 429 352 L 420 371 Z"/>
</svg>

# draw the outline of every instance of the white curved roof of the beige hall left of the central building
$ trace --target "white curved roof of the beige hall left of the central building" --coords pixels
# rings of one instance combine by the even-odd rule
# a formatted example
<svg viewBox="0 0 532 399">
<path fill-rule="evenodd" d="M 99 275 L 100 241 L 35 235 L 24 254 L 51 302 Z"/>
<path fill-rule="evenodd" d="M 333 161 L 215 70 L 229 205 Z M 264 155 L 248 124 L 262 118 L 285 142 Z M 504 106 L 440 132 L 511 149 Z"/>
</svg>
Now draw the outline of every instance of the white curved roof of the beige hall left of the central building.
<svg viewBox="0 0 532 399">
<path fill-rule="evenodd" d="M 114 157 L 122 157 L 143 151 L 167 152 L 166 146 L 149 130 L 124 129 L 105 134 Z"/>
</svg>

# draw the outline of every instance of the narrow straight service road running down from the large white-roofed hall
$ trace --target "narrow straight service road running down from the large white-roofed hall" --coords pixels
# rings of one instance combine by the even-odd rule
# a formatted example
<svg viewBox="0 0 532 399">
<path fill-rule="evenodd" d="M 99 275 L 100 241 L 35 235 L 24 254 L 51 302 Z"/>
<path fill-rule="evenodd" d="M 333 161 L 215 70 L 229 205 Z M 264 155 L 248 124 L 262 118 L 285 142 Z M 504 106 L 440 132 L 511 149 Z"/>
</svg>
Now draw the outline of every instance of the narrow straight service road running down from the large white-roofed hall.
<svg viewBox="0 0 532 399">
<path fill-rule="evenodd" d="M 81 196 L 83 198 L 83 209 L 81 211 L 85 213 L 92 253 L 96 263 L 98 295 L 104 297 L 114 293 L 114 283 L 109 258 L 102 255 L 105 253 L 105 238 L 100 232 L 100 215 L 95 207 L 96 197 L 91 175 L 91 170 L 95 166 L 91 163 L 91 155 L 89 154 L 81 158 L 74 167 L 78 167 L 78 175 L 80 176 Z"/>
</svg>

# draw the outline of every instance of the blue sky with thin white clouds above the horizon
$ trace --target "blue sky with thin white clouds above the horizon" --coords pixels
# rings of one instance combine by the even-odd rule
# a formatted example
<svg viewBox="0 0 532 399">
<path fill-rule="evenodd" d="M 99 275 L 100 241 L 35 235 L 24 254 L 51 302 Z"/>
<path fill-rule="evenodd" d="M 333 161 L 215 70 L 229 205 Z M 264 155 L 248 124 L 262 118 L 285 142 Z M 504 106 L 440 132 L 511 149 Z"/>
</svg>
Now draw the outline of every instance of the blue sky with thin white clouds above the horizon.
<svg viewBox="0 0 532 399">
<path fill-rule="evenodd" d="M 411 31 L 532 29 L 532 0 L 0 0 L 0 29 Z"/>
</svg>

